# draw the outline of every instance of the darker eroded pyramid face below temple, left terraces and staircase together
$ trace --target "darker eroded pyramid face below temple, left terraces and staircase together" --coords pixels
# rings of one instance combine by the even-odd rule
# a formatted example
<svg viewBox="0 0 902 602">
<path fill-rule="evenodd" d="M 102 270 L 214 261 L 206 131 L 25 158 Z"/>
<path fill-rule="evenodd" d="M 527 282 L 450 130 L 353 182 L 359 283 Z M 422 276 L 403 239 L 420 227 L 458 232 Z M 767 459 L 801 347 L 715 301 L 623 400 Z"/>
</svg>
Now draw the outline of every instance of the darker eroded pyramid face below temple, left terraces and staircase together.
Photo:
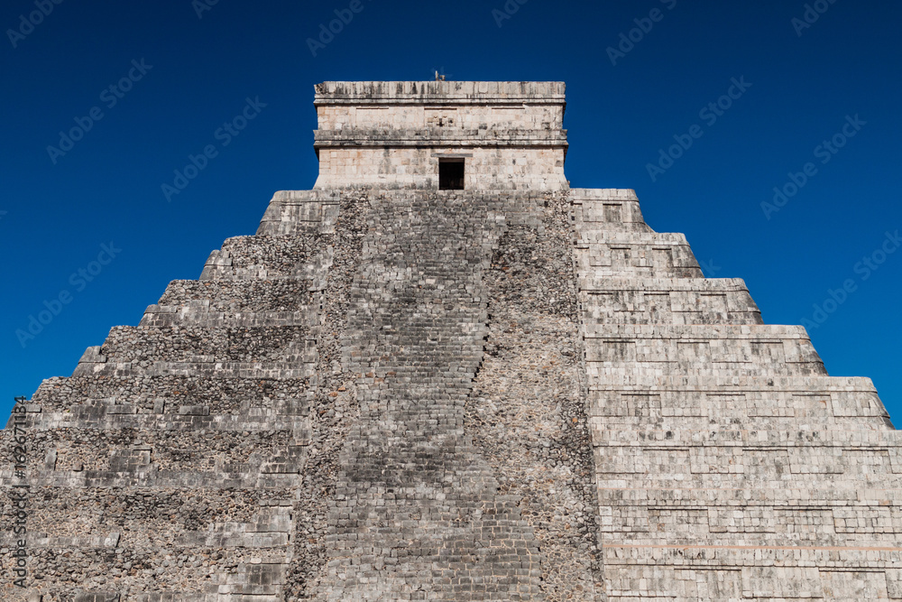
<svg viewBox="0 0 902 602">
<path fill-rule="evenodd" d="M 4 599 L 598 599 L 570 225 L 565 193 L 277 194 L 34 394 Z"/>
</svg>

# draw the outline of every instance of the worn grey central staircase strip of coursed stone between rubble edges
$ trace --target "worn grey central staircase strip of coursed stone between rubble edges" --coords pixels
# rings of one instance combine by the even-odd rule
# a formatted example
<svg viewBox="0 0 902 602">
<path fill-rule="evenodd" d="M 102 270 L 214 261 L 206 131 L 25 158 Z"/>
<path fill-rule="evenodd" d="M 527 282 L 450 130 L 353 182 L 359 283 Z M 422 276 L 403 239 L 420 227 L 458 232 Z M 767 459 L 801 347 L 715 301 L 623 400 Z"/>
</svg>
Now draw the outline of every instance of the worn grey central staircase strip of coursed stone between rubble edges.
<svg viewBox="0 0 902 602">
<path fill-rule="evenodd" d="M 327 600 L 534 599 L 539 560 L 464 429 L 502 216 L 451 195 L 373 204 L 348 315 L 360 418 L 329 514 Z"/>
</svg>

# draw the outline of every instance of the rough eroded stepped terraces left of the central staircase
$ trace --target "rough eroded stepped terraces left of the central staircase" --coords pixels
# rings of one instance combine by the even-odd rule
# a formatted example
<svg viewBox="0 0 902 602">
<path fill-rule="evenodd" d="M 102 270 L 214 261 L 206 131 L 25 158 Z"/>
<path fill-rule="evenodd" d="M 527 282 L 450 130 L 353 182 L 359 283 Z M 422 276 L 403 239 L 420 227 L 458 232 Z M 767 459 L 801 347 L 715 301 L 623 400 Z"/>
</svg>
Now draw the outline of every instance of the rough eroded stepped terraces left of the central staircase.
<svg viewBox="0 0 902 602">
<path fill-rule="evenodd" d="M 172 282 L 140 326 L 41 384 L 25 406 L 25 476 L 0 470 L 5 567 L 8 494 L 30 487 L 27 588 L 5 580 L 0 597 L 297 596 L 287 584 L 325 562 L 326 501 L 356 412 L 340 340 L 360 200 L 314 196 L 290 236 L 226 241 L 200 280 Z"/>
</svg>

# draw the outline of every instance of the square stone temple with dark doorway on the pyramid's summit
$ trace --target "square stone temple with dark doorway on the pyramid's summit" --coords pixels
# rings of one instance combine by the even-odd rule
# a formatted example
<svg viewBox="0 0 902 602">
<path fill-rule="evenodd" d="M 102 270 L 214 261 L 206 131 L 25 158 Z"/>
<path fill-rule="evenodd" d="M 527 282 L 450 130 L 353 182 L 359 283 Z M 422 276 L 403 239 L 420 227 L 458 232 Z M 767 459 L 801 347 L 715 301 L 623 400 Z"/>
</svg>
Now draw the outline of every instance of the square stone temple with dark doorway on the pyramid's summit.
<svg viewBox="0 0 902 602">
<path fill-rule="evenodd" d="M 327 81 L 316 188 L 561 190 L 563 82 Z"/>
</svg>

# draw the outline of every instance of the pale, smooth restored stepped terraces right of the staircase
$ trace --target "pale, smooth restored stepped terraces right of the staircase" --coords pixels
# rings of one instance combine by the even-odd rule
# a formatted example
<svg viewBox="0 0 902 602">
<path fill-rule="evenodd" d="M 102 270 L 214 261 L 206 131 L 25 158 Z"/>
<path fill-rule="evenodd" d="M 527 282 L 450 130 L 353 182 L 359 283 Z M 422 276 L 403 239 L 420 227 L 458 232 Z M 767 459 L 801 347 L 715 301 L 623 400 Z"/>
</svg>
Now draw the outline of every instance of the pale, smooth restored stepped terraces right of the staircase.
<svg viewBox="0 0 902 602">
<path fill-rule="evenodd" d="M 574 194 L 609 602 L 902 599 L 902 439 L 873 384 L 827 376 L 635 201 Z"/>
</svg>

